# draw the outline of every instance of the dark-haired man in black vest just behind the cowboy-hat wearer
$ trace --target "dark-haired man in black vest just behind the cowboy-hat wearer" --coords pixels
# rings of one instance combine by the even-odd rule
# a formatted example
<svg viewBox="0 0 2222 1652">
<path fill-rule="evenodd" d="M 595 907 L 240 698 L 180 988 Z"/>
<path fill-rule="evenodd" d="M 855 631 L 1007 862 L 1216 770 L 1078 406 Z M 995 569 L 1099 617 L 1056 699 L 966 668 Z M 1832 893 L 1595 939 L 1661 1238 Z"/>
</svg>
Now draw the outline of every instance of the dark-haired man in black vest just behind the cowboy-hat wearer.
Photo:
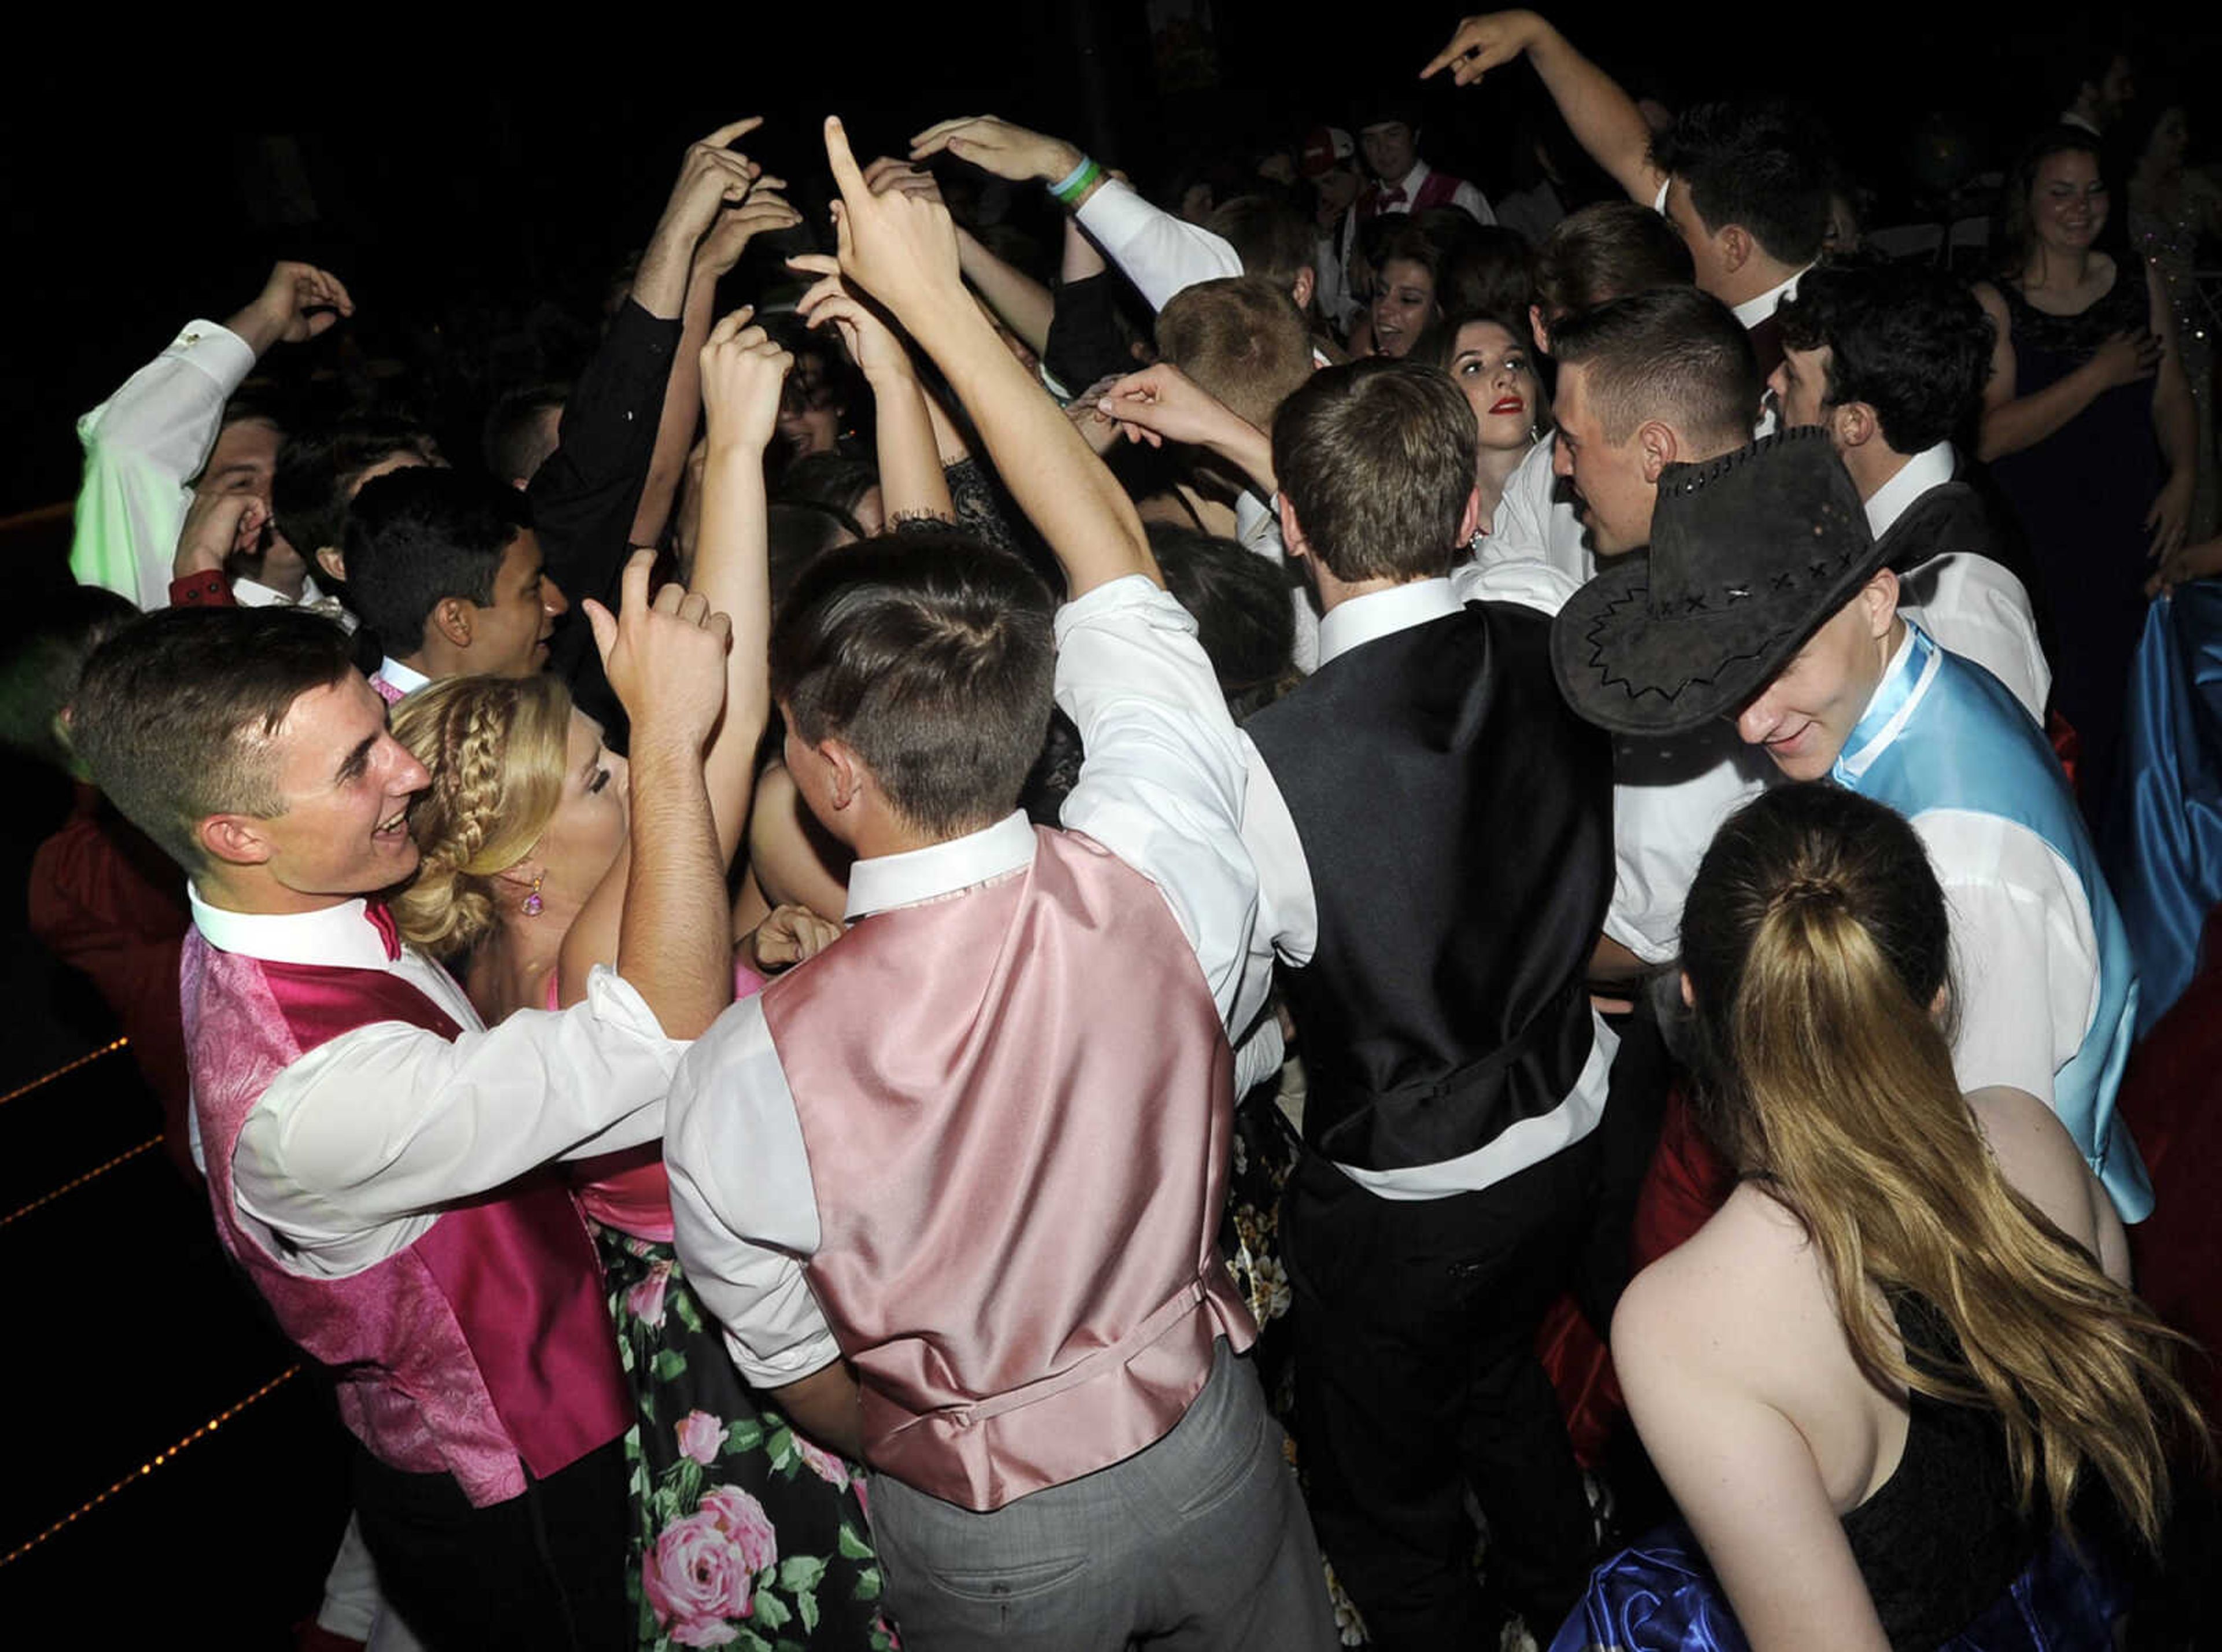
<svg viewBox="0 0 2222 1652">
<path fill-rule="evenodd" d="M 2038 642 L 2018 533 L 1953 453 L 1991 373 L 1991 322 L 1935 269 L 1822 266 L 1782 300 L 1769 380 L 1784 429 L 1826 426 L 1898 573 L 1898 611 L 1998 677 L 2044 722 L 2051 668 Z"/>
</svg>

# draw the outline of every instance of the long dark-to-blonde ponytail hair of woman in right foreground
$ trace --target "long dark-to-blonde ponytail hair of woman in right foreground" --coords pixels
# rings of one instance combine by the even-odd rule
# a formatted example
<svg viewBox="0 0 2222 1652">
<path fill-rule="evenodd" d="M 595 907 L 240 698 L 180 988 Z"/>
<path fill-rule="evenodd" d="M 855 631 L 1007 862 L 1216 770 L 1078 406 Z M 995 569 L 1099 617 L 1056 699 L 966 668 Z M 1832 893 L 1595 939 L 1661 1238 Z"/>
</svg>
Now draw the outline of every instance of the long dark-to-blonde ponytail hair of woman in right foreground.
<svg viewBox="0 0 2222 1652">
<path fill-rule="evenodd" d="M 1949 957 L 1902 817 L 1818 784 L 1753 802 L 1682 917 L 1706 1126 L 1804 1223 L 1869 1381 L 1995 1410 L 2024 1514 L 2042 1483 L 2064 1523 L 2095 1470 L 2158 1545 L 2169 1445 L 2206 1441 L 2182 1339 L 2000 1175 L 1931 1015 Z M 1878 1290 L 1933 1303 L 1973 1386 L 1911 1361 Z"/>
</svg>

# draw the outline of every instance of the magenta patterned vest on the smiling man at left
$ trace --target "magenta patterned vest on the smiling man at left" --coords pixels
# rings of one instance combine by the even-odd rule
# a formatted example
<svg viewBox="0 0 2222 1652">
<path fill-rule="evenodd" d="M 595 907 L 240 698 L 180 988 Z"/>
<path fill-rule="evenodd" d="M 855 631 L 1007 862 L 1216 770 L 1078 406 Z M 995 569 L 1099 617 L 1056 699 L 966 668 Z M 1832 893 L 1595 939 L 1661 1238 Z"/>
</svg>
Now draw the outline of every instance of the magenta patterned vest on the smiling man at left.
<svg viewBox="0 0 2222 1652">
<path fill-rule="evenodd" d="M 547 1175 L 447 1210 L 347 1279 L 307 1279 L 238 1219 L 231 1152 L 271 1081 L 373 1021 L 460 1028 L 384 970 L 269 964 L 184 939 L 184 1046 L 224 1248 L 284 1332 L 333 1368 L 340 1417 L 391 1468 L 456 1477 L 484 1508 L 518 1497 L 633 1421 L 593 1239 Z"/>
</svg>

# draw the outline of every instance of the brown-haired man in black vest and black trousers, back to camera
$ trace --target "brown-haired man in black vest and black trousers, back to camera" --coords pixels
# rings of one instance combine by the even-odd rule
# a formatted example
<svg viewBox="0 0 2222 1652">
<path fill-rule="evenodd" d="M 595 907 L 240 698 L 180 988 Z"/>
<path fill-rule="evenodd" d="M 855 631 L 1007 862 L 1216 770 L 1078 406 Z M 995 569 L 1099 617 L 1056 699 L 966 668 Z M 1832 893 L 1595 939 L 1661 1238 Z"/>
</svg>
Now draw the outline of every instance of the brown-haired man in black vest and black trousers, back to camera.
<svg viewBox="0 0 2222 1652">
<path fill-rule="evenodd" d="M 1451 382 L 1407 362 L 1282 404 L 1320 668 L 1249 724 L 1244 837 L 1309 1077 L 1282 1206 L 1298 1437 L 1380 1648 L 1495 1645 L 1507 1612 L 1549 1634 L 1593 1545 L 1533 1337 L 1589 1226 L 1613 766 L 1555 691 L 1544 615 L 1451 591 L 1475 440 Z"/>
</svg>

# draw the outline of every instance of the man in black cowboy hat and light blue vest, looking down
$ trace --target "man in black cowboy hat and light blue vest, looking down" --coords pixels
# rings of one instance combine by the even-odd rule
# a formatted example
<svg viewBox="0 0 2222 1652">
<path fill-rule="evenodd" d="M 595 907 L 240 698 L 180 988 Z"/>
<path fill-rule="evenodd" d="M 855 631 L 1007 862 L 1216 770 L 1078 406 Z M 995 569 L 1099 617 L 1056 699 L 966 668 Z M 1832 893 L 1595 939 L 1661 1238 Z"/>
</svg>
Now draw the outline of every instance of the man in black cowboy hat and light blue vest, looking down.
<svg viewBox="0 0 2222 1652">
<path fill-rule="evenodd" d="M 1791 779 L 1913 822 L 1953 908 L 1953 1068 L 2051 1106 L 2124 1221 L 2153 1203 L 2113 1110 L 2138 979 L 2044 735 L 1986 671 L 1898 613 L 1898 575 L 1822 429 L 1660 475 L 1651 555 L 1569 602 L 1573 708 L 1631 735 L 1733 717 Z"/>
</svg>

